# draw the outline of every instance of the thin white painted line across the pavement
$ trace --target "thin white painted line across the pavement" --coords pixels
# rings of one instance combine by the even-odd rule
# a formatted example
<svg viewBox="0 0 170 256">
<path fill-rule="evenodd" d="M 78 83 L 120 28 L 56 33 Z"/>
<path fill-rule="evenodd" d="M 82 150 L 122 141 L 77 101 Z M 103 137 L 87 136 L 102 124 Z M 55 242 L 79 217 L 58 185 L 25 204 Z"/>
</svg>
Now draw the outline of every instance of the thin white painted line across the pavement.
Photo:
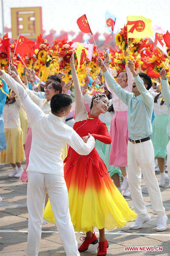
<svg viewBox="0 0 170 256">
<path fill-rule="evenodd" d="M 27 230 L 0 230 L 0 232 L 28 233 Z M 58 233 L 58 231 L 42 231 L 42 233 Z M 78 234 L 78 232 L 75 232 L 75 233 Z M 99 234 L 99 232 L 95 232 L 95 234 Z M 170 236 L 170 234 L 146 234 L 146 233 L 128 233 L 128 232 L 105 232 L 105 234 L 106 235 L 134 235 L 134 236 Z"/>
</svg>

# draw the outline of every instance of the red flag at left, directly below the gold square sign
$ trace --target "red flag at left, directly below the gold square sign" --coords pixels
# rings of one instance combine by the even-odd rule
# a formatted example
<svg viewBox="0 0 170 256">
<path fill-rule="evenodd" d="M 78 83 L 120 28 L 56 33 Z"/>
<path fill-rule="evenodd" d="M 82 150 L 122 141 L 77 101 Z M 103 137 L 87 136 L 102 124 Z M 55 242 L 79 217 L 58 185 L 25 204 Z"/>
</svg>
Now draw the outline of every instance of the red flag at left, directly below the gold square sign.
<svg viewBox="0 0 170 256">
<path fill-rule="evenodd" d="M 15 54 L 17 55 L 19 53 L 20 56 L 24 57 L 29 54 L 34 54 L 34 45 L 35 42 L 33 42 L 31 39 L 26 38 L 25 36 L 20 36 L 16 46 Z"/>
</svg>

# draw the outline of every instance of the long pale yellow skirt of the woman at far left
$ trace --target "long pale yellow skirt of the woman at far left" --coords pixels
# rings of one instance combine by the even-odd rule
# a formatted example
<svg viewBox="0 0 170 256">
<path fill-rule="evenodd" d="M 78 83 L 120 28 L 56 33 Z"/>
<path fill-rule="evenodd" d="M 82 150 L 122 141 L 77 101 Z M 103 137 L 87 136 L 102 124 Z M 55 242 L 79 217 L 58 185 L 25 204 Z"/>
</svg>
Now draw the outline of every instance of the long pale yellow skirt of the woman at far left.
<svg viewBox="0 0 170 256">
<path fill-rule="evenodd" d="M 7 148 L 1 151 L 1 163 L 20 163 L 24 161 L 24 147 L 22 144 L 22 129 L 4 129 Z"/>
</svg>

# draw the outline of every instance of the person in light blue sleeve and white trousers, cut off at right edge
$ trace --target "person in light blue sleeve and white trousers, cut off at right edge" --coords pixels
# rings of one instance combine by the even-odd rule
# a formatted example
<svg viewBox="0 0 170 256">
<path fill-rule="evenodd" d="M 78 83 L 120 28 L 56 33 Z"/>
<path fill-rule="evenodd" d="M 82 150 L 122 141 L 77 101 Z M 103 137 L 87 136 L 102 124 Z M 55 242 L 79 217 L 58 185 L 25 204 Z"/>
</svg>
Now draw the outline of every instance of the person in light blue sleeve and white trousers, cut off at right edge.
<svg viewBox="0 0 170 256">
<path fill-rule="evenodd" d="M 167 108 L 169 110 L 167 134 L 170 136 L 170 90 L 169 90 L 169 85 L 166 78 L 166 71 L 164 68 L 161 70 L 160 74 L 162 76 L 161 93 L 165 101 L 165 104 L 167 105 Z M 170 176 L 170 141 L 167 144 L 167 169 L 168 169 L 168 174 Z M 169 177 L 169 187 L 170 187 L 170 177 Z"/>
</svg>

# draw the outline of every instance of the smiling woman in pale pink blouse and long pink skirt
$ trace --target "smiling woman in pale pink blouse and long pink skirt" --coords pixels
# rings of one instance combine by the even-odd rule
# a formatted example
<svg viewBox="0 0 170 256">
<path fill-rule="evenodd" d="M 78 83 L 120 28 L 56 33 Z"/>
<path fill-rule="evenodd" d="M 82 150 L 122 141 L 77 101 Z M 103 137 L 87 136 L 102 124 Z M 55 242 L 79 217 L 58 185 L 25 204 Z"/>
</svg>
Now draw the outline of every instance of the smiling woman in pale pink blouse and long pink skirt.
<svg viewBox="0 0 170 256">
<path fill-rule="evenodd" d="M 109 72 L 111 69 L 109 68 L 109 55 L 108 53 L 105 54 L 105 65 Z M 120 72 L 117 78 L 118 84 L 124 88 L 124 90 L 131 92 L 132 91 L 132 81 L 133 76 L 127 67 L 126 71 Z M 107 88 L 112 93 L 112 102 L 114 108 L 114 115 L 111 120 L 111 139 L 112 139 L 112 146 L 109 158 L 109 165 L 118 166 L 123 175 L 123 183 L 121 185 L 121 190 L 128 189 L 128 175 L 126 172 L 126 166 L 128 166 L 127 162 L 127 154 L 128 154 L 128 124 L 127 124 L 127 115 L 128 115 L 128 106 L 126 106 L 111 88 L 108 86 L 107 82 L 105 81 Z M 116 176 L 116 177 L 114 177 Z M 117 174 L 114 174 L 113 180 L 116 184 L 120 181 Z"/>
</svg>

